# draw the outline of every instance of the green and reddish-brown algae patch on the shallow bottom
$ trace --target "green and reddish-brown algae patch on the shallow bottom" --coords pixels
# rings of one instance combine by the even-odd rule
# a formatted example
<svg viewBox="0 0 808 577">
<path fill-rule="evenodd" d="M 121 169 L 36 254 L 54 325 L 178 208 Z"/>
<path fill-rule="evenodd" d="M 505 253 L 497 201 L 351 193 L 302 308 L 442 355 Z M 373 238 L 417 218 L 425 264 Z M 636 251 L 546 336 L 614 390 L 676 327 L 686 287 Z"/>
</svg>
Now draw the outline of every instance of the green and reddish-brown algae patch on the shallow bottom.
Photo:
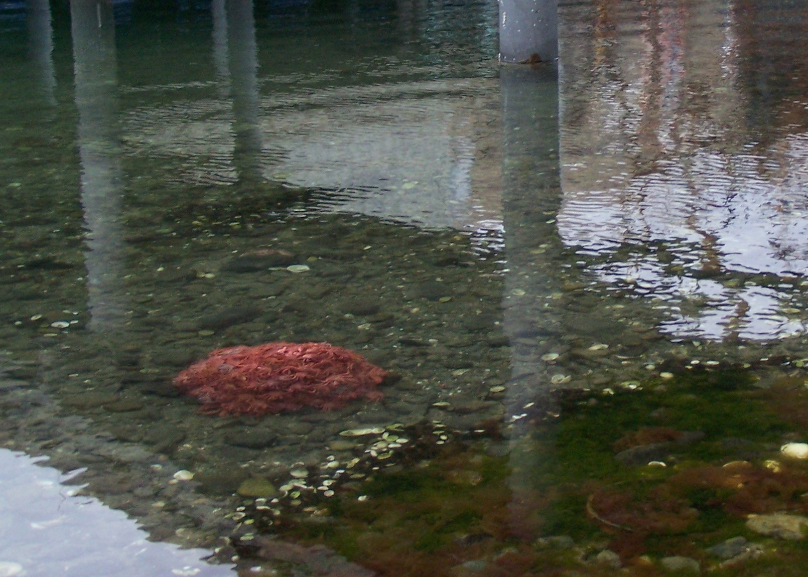
<svg viewBox="0 0 808 577">
<path fill-rule="evenodd" d="M 381 575 L 458 575 L 480 560 L 488 563 L 475 565 L 480 577 L 617 575 L 587 558 L 604 546 L 637 575 L 663 575 L 647 556 L 715 566 L 709 546 L 766 539 L 745 527 L 748 514 L 808 512 L 808 466 L 778 452 L 808 431 L 802 381 L 761 390 L 744 371 L 689 369 L 630 389 L 566 392 L 558 404 L 558 418 L 532 415 L 536 427 L 507 457 L 488 454 L 494 434 L 454 441 L 338 492 L 322 503 L 328 522 L 300 516 L 285 532 Z M 536 545 L 553 535 L 576 548 Z M 777 548 L 785 560 L 806 545 Z"/>
</svg>

